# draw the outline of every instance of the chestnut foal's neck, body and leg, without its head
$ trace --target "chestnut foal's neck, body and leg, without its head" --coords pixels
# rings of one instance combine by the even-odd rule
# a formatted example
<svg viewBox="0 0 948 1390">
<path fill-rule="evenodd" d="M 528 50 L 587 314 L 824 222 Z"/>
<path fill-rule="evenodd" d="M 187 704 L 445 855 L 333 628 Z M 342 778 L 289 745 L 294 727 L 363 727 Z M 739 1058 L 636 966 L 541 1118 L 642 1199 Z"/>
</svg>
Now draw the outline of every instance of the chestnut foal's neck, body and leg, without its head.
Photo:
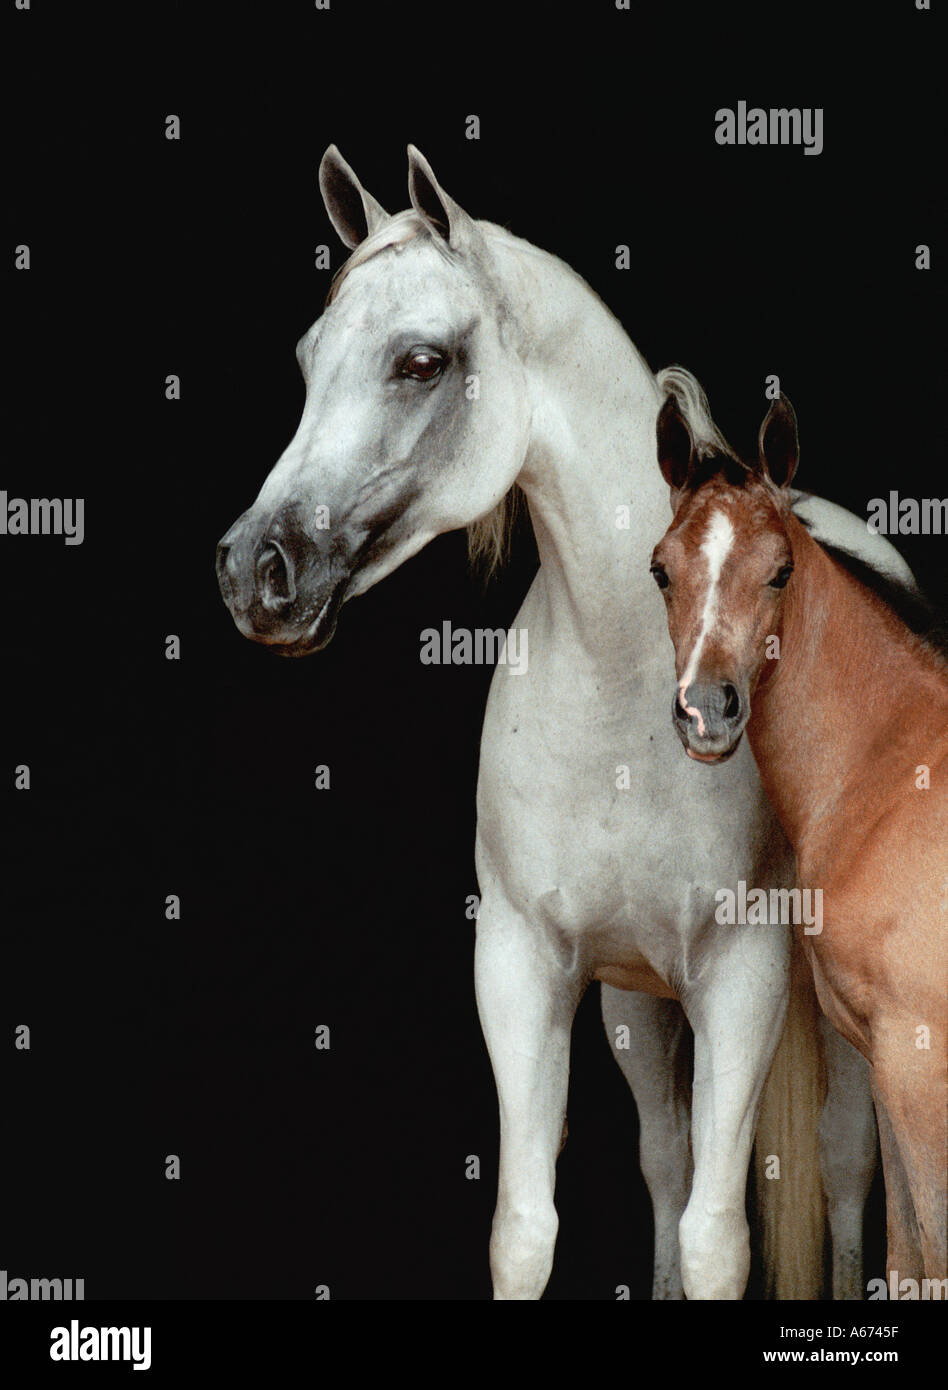
<svg viewBox="0 0 948 1390">
<path fill-rule="evenodd" d="M 913 1197 L 917 1243 L 890 1219 L 890 1268 L 944 1277 L 948 667 L 792 514 L 787 530 L 783 655 L 748 737 L 801 884 L 823 888 L 823 931 L 806 937 L 820 1006 L 873 1063 Z M 892 1212 L 885 1126 L 883 1144 Z"/>
</svg>

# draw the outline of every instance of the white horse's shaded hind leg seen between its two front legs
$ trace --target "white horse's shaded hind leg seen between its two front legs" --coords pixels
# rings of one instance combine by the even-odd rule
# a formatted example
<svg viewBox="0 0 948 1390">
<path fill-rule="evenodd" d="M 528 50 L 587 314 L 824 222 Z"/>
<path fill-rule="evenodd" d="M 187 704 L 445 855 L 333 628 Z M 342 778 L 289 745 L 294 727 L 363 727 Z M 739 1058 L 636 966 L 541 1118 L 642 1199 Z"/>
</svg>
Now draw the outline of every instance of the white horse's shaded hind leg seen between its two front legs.
<svg viewBox="0 0 948 1390">
<path fill-rule="evenodd" d="M 691 1193 L 691 1031 L 674 999 L 602 986 L 609 1047 L 638 1106 L 638 1158 L 655 1213 L 652 1298 L 684 1298 L 678 1223 Z M 628 1027 L 628 1048 L 616 1029 Z"/>
</svg>

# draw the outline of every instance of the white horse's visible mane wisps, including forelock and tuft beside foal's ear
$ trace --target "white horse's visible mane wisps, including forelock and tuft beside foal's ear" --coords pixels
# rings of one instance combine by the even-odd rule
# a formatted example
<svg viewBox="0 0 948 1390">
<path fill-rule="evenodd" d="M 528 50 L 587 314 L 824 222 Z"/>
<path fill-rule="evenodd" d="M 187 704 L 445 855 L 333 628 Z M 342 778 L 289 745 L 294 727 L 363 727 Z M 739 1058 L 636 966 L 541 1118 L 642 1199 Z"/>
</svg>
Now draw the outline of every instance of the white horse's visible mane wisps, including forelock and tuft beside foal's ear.
<svg viewBox="0 0 948 1390">
<path fill-rule="evenodd" d="M 537 250 L 530 242 L 523 242 L 512 232 L 507 232 L 506 228 L 496 227 L 492 222 L 481 222 L 480 225 L 485 231 L 489 228 L 492 234 L 499 234 L 503 240 Z M 448 260 L 453 259 L 448 243 L 441 236 L 432 234 L 428 222 L 413 207 L 406 208 L 403 213 L 395 213 L 381 227 L 366 236 L 356 246 L 352 256 L 342 263 L 332 277 L 329 293 L 325 299 L 327 307 L 336 297 L 343 281 L 353 270 L 364 265 L 367 260 L 378 256 L 379 252 L 386 250 L 389 246 L 399 250 L 407 242 L 414 240 L 416 236 L 428 236 L 442 256 Z M 681 414 L 691 428 L 691 436 L 699 457 L 710 453 L 724 453 L 728 457 L 735 457 L 734 450 L 712 420 L 708 396 L 696 378 L 685 367 L 664 367 L 655 379 L 663 398 L 673 395 L 677 399 Z M 474 569 L 484 573 L 485 578 L 489 578 L 507 557 L 510 537 L 521 500 L 523 493 L 514 482 L 491 512 L 467 527 L 468 559 Z"/>
</svg>

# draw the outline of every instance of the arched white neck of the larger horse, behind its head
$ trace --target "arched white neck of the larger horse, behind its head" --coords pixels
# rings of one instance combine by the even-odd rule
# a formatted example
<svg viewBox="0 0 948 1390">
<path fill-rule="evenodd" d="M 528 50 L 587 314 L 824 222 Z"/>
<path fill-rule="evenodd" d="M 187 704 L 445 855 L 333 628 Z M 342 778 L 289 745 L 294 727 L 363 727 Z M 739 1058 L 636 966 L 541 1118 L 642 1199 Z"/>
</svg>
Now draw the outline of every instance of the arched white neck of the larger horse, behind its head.
<svg viewBox="0 0 948 1390">
<path fill-rule="evenodd" d="M 649 555 L 669 524 L 655 453 L 660 392 L 620 322 L 569 265 L 509 234 L 492 249 L 534 403 L 517 481 L 550 616 L 603 660 L 628 641 L 637 598 L 652 585 Z"/>
</svg>

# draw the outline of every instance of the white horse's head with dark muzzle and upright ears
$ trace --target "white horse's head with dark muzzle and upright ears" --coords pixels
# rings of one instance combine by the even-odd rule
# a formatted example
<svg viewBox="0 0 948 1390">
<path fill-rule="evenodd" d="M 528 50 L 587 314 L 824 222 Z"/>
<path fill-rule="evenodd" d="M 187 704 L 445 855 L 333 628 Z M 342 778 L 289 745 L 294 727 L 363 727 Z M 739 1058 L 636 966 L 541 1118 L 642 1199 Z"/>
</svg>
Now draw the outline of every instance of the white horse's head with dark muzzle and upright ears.
<svg viewBox="0 0 948 1390">
<path fill-rule="evenodd" d="M 516 336 L 482 228 L 409 146 L 410 210 L 389 217 L 335 146 L 327 213 L 352 256 L 296 354 L 306 403 L 253 506 L 218 545 L 239 630 L 288 656 L 432 537 L 484 517 L 530 436 Z"/>
</svg>

